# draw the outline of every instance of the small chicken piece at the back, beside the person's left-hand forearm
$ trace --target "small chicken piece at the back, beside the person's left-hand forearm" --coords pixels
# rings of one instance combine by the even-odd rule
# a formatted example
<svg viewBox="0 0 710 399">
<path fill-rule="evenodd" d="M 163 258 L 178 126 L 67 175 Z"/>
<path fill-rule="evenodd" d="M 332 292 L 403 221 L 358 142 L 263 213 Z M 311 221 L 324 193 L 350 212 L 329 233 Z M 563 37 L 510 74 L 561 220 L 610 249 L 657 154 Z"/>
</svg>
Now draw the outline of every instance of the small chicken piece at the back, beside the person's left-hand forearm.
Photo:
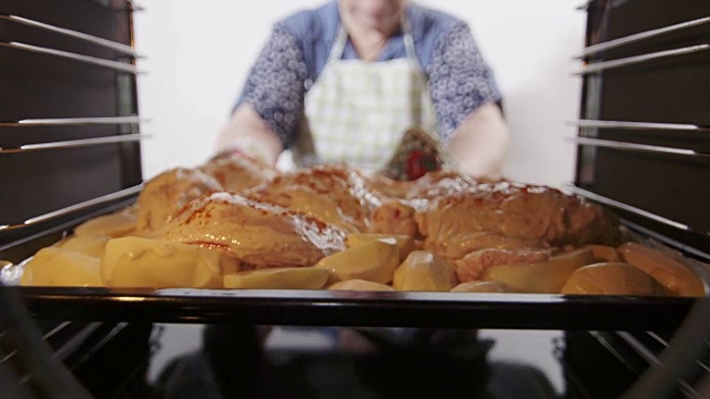
<svg viewBox="0 0 710 399">
<path fill-rule="evenodd" d="M 276 177 L 276 170 L 245 156 L 222 156 L 197 168 L 214 177 L 225 191 L 242 192 Z"/>
</svg>

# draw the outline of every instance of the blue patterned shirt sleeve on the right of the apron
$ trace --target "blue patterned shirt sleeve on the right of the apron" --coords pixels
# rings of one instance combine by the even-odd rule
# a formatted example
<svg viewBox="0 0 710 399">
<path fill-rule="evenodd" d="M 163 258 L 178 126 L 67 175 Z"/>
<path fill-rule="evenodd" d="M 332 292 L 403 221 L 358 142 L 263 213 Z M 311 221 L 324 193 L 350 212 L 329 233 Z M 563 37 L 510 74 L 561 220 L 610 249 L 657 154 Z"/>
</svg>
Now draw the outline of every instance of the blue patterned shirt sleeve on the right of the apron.
<svg viewBox="0 0 710 399">
<path fill-rule="evenodd" d="M 427 73 L 439 135 L 444 141 L 454 135 L 473 111 L 488 102 L 500 101 L 493 71 L 464 22 L 454 24 L 437 39 Z"/>
</svg>

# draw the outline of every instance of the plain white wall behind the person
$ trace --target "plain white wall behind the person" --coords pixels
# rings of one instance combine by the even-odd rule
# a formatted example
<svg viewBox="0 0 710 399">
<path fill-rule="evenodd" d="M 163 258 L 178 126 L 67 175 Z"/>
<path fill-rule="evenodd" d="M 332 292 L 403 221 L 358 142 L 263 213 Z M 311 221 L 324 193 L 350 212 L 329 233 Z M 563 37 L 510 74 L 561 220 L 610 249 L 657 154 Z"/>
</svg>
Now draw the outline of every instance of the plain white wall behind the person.
<svg viewBox="0 0 710 399">
<path fill-rule="evenodd" d="M 246 73 L 271 25 L 324 0 L 144 0 L 135 16 L 143 174 L 196 166 L 213 154 Z M 558 186 L 575 168 L 580 81 L 571 59 L 584 44 L 585 14 L 569 0 L 418 0 L 470 23 L 504 94 L 513 146 L 504 175 Z"/>
</svg>

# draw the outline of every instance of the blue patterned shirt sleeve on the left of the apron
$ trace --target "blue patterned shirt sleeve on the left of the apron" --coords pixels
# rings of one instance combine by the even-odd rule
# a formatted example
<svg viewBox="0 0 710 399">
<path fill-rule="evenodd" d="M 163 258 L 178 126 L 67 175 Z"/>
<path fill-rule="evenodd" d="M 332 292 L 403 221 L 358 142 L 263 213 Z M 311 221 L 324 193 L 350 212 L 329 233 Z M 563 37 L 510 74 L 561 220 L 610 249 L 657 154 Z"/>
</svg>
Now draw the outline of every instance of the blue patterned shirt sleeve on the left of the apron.
<svg viewBox="0 0 710 399">
<path fill-rule="evenodd" d="M 298 39 L 277 23 L 251 69 L 236 105 L 250 104 L 288 146 L 301 120 L 307 76 Z"/>
</svg>

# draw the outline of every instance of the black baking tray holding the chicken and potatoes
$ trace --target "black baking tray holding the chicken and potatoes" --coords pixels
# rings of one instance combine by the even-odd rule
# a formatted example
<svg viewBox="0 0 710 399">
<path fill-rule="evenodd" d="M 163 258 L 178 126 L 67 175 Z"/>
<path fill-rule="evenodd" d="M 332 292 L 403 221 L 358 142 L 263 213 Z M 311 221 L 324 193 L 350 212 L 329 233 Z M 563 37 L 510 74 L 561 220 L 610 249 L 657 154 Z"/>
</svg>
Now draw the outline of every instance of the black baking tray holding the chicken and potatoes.
<svg viewBox="0 0 710 399">
<path fill-rule="evenodd" d="M 70 234 L 73 226 L 129 203 L 121 202 L 90 212 L 21 242 L 0 245 L 0 258 L 20 264 L 39 248 Z M 710 279 L 706 275 L 701 277 Z M 0 289 L 17 289 L 36 319 L 561 330 L 674 330 L 696 303 L 710 300 L 647 296 L 324 289 L 21 286 L 0 286 Z"/>
</svg>

